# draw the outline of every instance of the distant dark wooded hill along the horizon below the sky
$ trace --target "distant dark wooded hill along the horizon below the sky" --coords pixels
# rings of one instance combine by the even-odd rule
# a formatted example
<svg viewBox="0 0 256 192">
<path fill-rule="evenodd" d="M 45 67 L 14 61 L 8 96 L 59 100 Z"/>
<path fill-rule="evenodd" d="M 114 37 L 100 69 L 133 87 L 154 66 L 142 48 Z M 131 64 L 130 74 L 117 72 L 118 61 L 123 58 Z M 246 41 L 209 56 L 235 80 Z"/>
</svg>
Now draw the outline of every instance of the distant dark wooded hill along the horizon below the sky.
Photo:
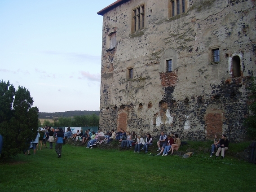
<svg viewBox="0 0 256 192">
<path fill-rule="evenodd" d="M 38 118 L 40 119 L 47 119 L 47 118 L 68 118 L 68 117 L 74 117 L 74 116 L 82 116 L 82 115 L 92 115 L 96 114 L 99 116 L 100 111 L 65 111 L 65 112 L 54 112 L 54 113 L 45 113 L 45 112 L 39 112 Z"/>
</svg>

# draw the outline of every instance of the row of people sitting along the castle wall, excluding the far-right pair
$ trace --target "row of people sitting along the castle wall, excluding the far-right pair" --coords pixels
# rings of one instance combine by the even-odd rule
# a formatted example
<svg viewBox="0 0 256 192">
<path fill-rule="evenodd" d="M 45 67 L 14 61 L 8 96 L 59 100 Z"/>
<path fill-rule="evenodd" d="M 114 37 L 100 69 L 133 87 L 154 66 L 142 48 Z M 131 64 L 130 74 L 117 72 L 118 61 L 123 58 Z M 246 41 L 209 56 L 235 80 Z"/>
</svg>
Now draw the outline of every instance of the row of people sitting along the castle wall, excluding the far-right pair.
<svg viewBox="0 0 256 192">
<path fill-rule="evenodd" d="M 132 146 L 135 146 L 134 153 L 140 153 L 141 150 L 148 153 L 148 148 L 153 144 L 153 138 L 150 133 L 146 135 L 146 140 L 144 140 L 141 135 L 136 135 L 135 131 L 132 131 L 132 133 L 130 131 L 125 132 L 124 129 L 119 129 L 117 133 L 114 129 L 111 131 L 106 131 L 106 133 L 103 133 L 102 130 L 95 133 L 94 131 L 91 132 L 90 129 L 88 129 L 84 134 L 82 133 L 83 130 L 78 130 L 77 133 L 70 136 L 70 138 L 73 140 L 80 140 L 83 144 L 88 141 L 86 148 L 93 148 L 93 146 L 102 144 L 103 142 L 105 144 L 109 144 L 113 140 L 118 140 L 121 143 L 121 149 L 129 149 L 132 148 Z M 177 134 L 174 135 L 171 133 L 167 136 L 164 134 L 164 132 L 161 132 L 159 141 L 157 142 L 157 151 L 159 151 L 158 155 L 161 155 L 162 153 L 162 156 L 167 156 L 168 153 L 171 153 L 172 155 L 174 150 L 178 150 L 181 145 L 181 140 Z"/>
</svg>

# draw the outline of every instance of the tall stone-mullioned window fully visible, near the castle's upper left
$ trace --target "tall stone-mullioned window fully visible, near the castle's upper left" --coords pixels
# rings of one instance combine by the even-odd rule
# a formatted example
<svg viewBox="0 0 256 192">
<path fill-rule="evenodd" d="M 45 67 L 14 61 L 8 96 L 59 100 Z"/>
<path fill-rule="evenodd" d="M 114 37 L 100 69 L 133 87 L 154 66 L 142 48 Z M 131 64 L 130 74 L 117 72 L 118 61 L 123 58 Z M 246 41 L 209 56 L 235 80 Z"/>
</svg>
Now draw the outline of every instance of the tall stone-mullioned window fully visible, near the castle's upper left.
<svg viewBox="0 0 256 192">
<path fill-rule="evenodd" d="M 141 5 L 140 7 L 137 7 L 136 9 L 133 9 L 133 29 L 132 31 L 138 31 L 142 28 L 144 28 L 144 5 Z"/>
</svg>

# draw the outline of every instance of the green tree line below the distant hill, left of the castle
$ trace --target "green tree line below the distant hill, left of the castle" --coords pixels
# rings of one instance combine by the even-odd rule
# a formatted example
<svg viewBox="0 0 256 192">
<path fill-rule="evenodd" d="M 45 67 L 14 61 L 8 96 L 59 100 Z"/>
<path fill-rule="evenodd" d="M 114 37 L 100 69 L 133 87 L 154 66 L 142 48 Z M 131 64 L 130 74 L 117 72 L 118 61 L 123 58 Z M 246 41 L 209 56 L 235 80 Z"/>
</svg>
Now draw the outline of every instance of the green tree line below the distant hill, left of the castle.
<svg viewBox="0 0 256 192">
<path fill-rule="evenodd" d="M 44 120 L 38 127 L 48 125 L 50 127 L 99 127 L 100 118 L 95 113 L 92 115 L 81 115 L 75 117 L 53 118 L 53 121 Z"/>
</svg>

